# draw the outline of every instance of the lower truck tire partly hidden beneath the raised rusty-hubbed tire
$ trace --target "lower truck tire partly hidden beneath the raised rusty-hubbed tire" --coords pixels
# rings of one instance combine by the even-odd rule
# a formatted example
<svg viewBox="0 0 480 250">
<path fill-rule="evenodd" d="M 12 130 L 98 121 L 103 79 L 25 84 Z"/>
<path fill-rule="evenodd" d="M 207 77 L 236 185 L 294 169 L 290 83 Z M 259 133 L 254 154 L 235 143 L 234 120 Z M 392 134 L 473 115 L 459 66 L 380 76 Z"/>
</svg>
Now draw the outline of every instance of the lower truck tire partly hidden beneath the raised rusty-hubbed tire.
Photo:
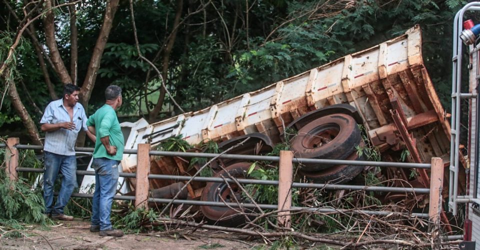
<svg viewBox="0 0 480 250">
<path fill-rule="evenodd" d="M 360 144 L 363 146 L 363 143 Z M 356 152 L 351 153 L 346 160 L 363 160 L 363 156 L 358 156 Z M 341 184 L 350 181 L 363 170 L 363 166 L 357 165 L 334 165 L 327 169 L 322 169 L 315 172 L 304 171 L 298 169 L 297 176 L 305 177 L 308 181 L 314 183 Z"/>
</svg>

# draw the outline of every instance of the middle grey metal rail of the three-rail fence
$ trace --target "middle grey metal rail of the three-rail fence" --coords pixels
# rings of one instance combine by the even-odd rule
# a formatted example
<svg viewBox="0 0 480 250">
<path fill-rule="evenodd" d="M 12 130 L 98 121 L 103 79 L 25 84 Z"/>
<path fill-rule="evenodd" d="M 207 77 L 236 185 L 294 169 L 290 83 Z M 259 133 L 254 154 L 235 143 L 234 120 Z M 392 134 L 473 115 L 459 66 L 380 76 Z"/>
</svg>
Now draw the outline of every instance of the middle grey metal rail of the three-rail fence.
<svg viewBox="0 0 480 250">
<path fill-rule="evenodd" d="M 32 167 L 18 167 L 19 172 L 43 172 L 43 168 Z M 76 170 L 77 174 L 82 175 L 95 175 L 94 171 Z M 135 177 L 135 173 L 120 172 L 121 177 Z M 164 174 L 149 174 L 150 179 L 169 179 L 169 180 L 190 180 L 190 176 L 178 176 L 178 175 L 164 175 Z M 195 181 L 210 181 L 210 182 L 224 182 L 235 183 L 230 178 L 220 177 L 194 177 Z M 260 185 L 278 185 L 278 180 L 261 180 L 261 179 L 237 179 L 242 184 L 260 184 Z M 415 192 L 415 193 L 429 193 L 430 188 L 417 188 L 417 187 L 395 187 L 395 186 L 365 186 L 365 185 L 342 185 L 342 184 L 320 184 L 320 183 L 300 183 L 293 182 L 292 187 L 300 188 L 318 188 L 326 190 L 365 190 L 375 192 Z"/>
</svg>

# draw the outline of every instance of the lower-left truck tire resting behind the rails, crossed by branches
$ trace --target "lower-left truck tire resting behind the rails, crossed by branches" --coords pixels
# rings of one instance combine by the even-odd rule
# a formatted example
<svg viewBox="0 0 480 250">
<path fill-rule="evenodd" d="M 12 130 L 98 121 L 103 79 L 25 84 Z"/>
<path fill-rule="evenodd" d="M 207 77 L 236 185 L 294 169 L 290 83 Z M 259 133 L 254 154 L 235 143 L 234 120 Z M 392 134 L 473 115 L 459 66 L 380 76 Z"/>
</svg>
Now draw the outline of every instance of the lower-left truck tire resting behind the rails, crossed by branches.
<svg viewBox="0 0 480 250">
<path fill-rule="evenodd" d="M 247 178 L 246 173 L 251 163 L 248 162 L 237 162 L 218 172 L 215 177 L 225 177 L 228 178 L 228 173 L 230 173 L 235 178 Z M 228 183 L 231 187 L 228 188 L 228 185 L 224 182 L 208 182 L 208 184 L 203 188 L 201 193 L 201 200 L 203 201 L 215 201 L 215 202 L 236 202 L 232 197 L 232 194 L 235 195 L 236 199 L 242 203 L 250 203 L 249 200 L 245 200 L 242 197 L 242 191 L 238 188 L 236 183 Z M 221 196 L 221 198 L 220 198 Z M 210 224 L 221 225 L 221 226 L 238 226 L 245 223 L 245 215 L 239 214 L 234 209 L 231 209 L 226 206 L 201 206 L 201 212 L 205 216 L 206 220 Z M 239 207 L 236 209 L 240 209 Z M 245 213 L 251 213 L 253 210 L 249 208 L 243 208 Z M 250 219 L 253 219 L 250 216 Z"/>
</svg>

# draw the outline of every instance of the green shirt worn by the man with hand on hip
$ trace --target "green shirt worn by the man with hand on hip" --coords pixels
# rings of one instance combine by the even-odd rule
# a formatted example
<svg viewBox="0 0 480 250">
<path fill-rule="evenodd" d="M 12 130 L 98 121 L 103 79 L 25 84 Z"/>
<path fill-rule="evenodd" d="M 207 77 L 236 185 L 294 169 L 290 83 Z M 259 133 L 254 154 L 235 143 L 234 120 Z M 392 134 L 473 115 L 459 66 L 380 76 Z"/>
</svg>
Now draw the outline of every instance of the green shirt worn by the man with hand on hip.
<svg viewBox="0 0 480 250">
<path fill-rule="evenodd" d="M 115 110 L 107 104 L 98 108 L 94 114 L 88 117 L 86 121 L 87 126 L 95 127 L 95 149 L 93 150 L 93 158 L 109 158 L 114 160 L 121 160 L 123 157 L 123 133 L 121 133 L 120 123 L 116 117 Z M 100 141 L 100 138 L 109 136 L 110 145 L 116 146 L 116 154 L 109 155 Z"/>
</svg>

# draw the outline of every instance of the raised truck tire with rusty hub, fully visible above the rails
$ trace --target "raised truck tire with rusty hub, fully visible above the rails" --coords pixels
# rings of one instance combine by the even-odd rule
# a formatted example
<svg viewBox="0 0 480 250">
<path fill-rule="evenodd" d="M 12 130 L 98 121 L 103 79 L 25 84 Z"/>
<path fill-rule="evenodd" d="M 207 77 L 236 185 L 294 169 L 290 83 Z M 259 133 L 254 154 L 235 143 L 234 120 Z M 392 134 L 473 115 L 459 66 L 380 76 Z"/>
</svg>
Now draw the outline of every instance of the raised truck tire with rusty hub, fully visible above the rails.
<svg viewBox="0 0 480 250">
<path fill-rule="evenodd" d="M 361 142 L 360 129 L 352 116 L 335 113 L 310 121 L 291 140 L 298 158 L 345 159 Z M 304 171 L 317 171 L 330 164 L 305 164 Z"/>
</svg>

